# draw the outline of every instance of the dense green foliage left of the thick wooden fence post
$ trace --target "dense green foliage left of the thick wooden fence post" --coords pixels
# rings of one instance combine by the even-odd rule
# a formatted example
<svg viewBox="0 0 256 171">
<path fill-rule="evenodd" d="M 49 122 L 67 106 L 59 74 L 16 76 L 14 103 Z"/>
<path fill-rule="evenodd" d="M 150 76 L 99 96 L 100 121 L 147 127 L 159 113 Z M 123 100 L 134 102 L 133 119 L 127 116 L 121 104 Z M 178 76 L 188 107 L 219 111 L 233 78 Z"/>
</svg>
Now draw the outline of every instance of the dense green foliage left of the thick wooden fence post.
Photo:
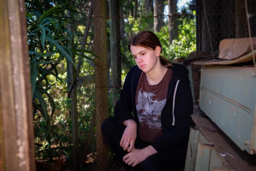
<svg viewBox="0 0 256 171">
<path fill-rule="evenodd" d="M 75 66 L 72 56 L 76 56 L 76 60 L 79 56 L 90 59 L 85 54 L 98 57 L 90 50 L 79 49 L 80 43 L 72 40 L 74 34 L 67 31 L 67 23 L 70 22 L 66 15 L 67 6 L 58 3 L 62 2 L 26 0 L 25 3 L 34 107 L 35 156 L 36 160 L 49 163 L 54 162 L 55 157 L 61 154 L 67 155 L 70 160 L 72 151 L 70 99 L 67 98 L 67 86 L 63 81 L 67 79 L 66 61 Z M 92 73 L 92 69 L 87 67 L 81 73 Z M 87 139 L 90 127 L 88 121 L 94 111 L 94 95 L 87 98 L 84 93 L 88 95 L 88 92 L 94 92 L 91 91 L 92 87 L 90 90 L 81 87 L 81 94 L 78 93 L 82 97 L 79 98 L 78 113 L 81 149 Z M 90 104 L 86 110 L 83 108 L 84 104 Z"/>
</svg>

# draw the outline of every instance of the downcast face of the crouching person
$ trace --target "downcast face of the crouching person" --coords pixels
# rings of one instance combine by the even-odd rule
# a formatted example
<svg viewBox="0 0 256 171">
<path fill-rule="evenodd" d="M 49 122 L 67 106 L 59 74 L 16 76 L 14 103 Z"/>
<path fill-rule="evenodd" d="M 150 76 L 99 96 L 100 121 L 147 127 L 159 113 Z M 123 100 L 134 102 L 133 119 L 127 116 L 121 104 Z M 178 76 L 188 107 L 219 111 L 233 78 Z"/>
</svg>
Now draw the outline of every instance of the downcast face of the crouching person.
<svg viewBox="0 0 256 171">
<path fill-rule="evenodd" d="M 151 50 L 143 46 L 131 45 L 131 55 L 135 59 L 137 66 L 144 72 L 147 73 L 154 69 L 157 62 L 160 62 L 159 56 L 161 48 L 157 46 Z"/>
</svg>

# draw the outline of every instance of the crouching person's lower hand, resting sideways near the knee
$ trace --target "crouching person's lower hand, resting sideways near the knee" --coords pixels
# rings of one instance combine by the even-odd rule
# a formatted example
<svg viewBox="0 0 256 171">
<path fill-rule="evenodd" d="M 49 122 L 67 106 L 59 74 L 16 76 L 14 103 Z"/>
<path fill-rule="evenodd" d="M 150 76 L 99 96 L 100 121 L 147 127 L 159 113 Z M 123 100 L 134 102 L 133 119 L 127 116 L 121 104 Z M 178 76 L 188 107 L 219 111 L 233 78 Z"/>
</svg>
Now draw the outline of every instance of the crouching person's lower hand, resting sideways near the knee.
<svg viewBox="0 0 256 171">
<path fill-rule="evenodd" d="M 123 161 L 134 167 L 135 165 L 143 162 L 148 156 L 155 153 L 157 153 L 157 151 L 152 146 L 147 146 L 144 149 L 133 149 L 123 157 Z"/>
</svg>

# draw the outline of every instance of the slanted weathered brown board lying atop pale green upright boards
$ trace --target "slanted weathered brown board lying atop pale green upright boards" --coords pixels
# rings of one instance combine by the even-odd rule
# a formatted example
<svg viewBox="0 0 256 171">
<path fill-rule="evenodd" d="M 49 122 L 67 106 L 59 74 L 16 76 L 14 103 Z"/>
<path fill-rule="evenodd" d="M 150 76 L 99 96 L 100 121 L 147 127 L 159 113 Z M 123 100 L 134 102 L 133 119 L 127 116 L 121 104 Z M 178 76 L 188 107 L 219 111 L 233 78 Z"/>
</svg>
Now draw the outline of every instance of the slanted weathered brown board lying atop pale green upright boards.
<svg viewBox="0 0 256 171">
<path fill-rule="evenodd" d="M 192 115 L 192 119 L 207 140 L 209 140 L 218 151 L 226 155 L 224 158 L 236 171 L 256 171 L 255 155 L 241 151 L 241 149 L 208 118 Z"/>
</svg>

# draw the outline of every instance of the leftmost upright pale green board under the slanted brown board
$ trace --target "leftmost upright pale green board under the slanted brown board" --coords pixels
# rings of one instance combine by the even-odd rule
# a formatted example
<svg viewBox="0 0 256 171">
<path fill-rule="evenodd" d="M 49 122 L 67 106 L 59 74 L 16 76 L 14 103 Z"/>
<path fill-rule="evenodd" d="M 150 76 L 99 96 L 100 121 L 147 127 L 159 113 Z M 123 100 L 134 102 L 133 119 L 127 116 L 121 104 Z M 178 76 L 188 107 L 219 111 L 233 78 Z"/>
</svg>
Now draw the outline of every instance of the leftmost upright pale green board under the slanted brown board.
<svg viewBox="0 0 256 171">
<path fill-rule="evenodd" d="M 186 154 L 186 163 L 184 171 L 194 171 L 195 168 L 195 159 L 196 159 L 196 151 L 198 146 L 198 137 L 199 131 L 194 128 L 190 128 L 189 132 L 189 143 Z"/>
</svg>

